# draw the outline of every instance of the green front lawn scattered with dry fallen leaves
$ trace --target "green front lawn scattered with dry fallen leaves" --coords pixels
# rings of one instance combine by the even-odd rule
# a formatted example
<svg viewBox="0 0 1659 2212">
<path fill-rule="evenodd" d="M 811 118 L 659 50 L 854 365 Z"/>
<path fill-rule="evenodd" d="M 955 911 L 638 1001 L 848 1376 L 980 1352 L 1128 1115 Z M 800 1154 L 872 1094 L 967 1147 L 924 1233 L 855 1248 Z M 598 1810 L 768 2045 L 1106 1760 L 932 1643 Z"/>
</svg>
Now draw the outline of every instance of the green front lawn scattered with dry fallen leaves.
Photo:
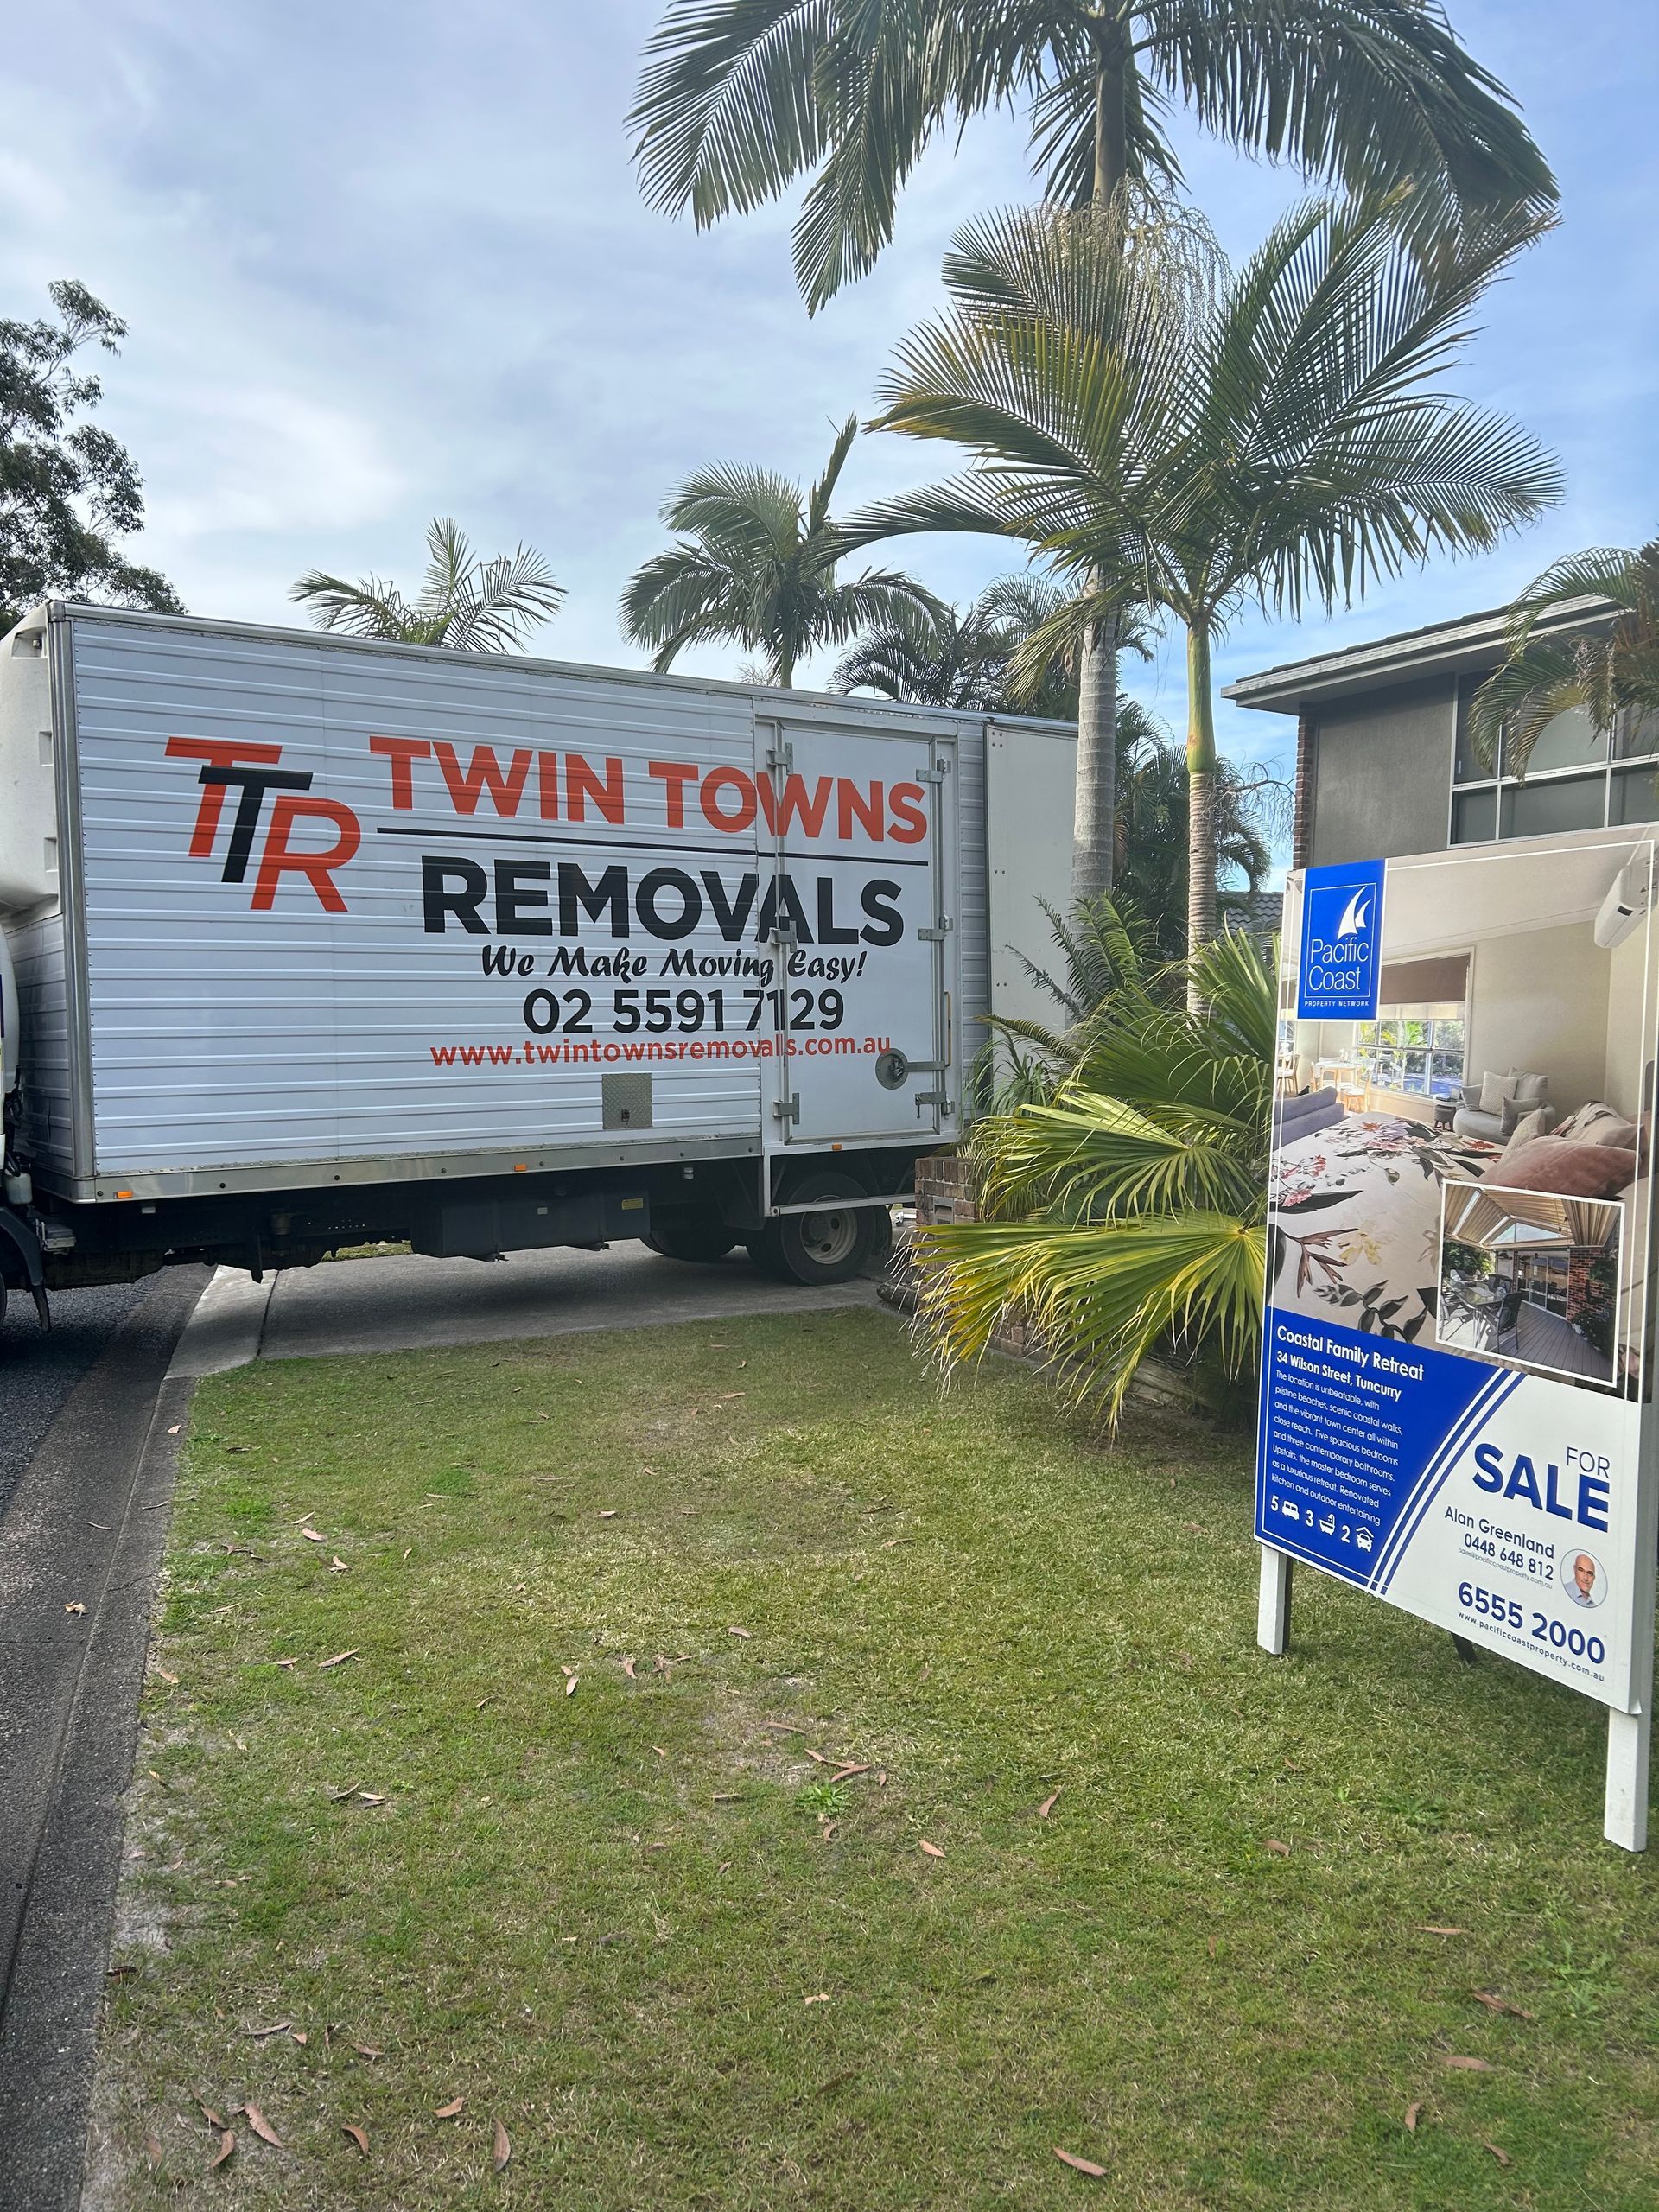
<svg viewBox="0 0 1659 2212">
<path fill-rule="evenodd" d="M 144 1717 L 126 2205 L 1659 2201 L 1599 1710 L 887 1314 L 206 1383 Z"/>
</svg>

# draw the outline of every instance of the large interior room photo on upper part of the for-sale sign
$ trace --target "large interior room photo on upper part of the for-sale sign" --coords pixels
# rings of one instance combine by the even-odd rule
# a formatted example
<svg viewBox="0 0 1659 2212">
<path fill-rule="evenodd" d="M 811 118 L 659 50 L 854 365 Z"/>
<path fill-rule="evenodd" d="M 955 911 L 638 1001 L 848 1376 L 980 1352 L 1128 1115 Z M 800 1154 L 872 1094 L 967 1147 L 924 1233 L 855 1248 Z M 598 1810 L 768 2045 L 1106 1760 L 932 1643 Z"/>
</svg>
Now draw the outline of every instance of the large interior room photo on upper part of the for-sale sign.
<svg viewBox="0 0 1659 2212">
<path fill-rule="evenodd" d="M 1389 860 L 1367 1020 L 1296 1020 L 1287 911 L 1274 1307 L 1641 1396 L 1652 865 L 1630 836 Z"/>
</svg>

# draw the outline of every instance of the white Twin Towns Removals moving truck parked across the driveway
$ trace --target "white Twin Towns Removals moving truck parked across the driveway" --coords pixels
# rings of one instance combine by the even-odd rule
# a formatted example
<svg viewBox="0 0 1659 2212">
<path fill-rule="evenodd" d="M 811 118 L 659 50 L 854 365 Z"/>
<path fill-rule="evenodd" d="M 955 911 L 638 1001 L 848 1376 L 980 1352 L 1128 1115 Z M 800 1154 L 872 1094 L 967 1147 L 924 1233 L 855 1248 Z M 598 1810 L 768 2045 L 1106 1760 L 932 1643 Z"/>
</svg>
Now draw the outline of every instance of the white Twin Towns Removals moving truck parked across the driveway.
<svg viewBox="0 0 1659 2212">
<path fill-rule="evenodd" d="M 51 602 L 0 639 L 0 1274 L 858 1270 L 1064 894 L 1075 730 Z"/>
</svg>

